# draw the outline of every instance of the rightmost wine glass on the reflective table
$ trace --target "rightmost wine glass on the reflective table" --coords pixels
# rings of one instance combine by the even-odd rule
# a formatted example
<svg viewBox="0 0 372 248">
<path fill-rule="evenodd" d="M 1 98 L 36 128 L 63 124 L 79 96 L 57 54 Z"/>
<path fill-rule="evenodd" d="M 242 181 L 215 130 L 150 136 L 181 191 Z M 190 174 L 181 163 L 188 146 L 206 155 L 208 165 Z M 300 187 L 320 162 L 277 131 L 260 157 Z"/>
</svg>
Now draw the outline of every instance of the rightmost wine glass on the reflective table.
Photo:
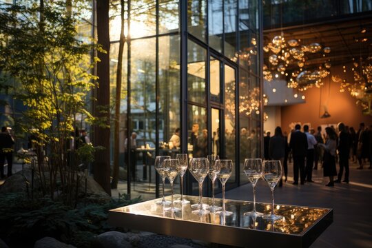
<svg viewBox="0 0 372 248">
<path fill-rule="evenodd" d="M 265 214 L 262 218 L 266 220 L 279 220 L 282 216 L 278 216 L 274 214 L 273 209 L 273 189 L 275 188 L 276 184 L 282 178 L 282 164 L 280 161 L 264 161 L 263 165 L 263 176 L 271 189 L 271 214 Z"/>
</svg>

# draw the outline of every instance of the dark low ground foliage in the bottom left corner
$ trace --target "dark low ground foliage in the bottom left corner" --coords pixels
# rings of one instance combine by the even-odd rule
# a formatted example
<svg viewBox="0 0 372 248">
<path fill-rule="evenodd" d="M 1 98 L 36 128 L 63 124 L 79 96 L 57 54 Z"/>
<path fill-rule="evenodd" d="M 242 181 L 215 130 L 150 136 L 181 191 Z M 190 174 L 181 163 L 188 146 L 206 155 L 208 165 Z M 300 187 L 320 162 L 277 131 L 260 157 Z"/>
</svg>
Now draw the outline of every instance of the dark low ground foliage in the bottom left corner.
<svg viewBox="0 0 372 248">
<path fill-rule="evenodd" d="M 76 247 L 90 247 L 94 236 L 115 229 L 107 224 L 109 209 L 140 200 L 124 196 L 104 205 L 81 203 L 78 209 L 72 209 L 50 198 L 31 200 L 23 194 L 1 194 L 0 238 L 12 247 L 32 247 L 45 236 Z"/>
</svg>

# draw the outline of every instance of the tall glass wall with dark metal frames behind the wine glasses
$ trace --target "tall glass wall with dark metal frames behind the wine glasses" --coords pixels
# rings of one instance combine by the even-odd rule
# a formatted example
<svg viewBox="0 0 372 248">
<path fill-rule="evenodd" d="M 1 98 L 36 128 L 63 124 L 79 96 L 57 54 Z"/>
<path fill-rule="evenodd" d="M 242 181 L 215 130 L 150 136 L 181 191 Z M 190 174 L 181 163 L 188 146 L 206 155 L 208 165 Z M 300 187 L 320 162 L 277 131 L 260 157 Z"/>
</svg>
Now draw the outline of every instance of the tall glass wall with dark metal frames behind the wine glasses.
<svg viewBox="0 0 372 248">
<path fill-rule="evenodd" d="M 124 185 L 119 190 L 145 199 L 156 197 L 156 192 L 161 195 L 154 159 L 175 157 L 180 151 L 187 151 L 189 158 L 218 154 L 232 159 L 235 172 L 227 187 L 246 183 L 239 173 L 242 163 L 260 154 L 260 1 L 188 0 L 185 10 L 176 0 L 130 3 L 125 7 L 125 32 L 130 39 L 123 57 L 119 124 L 119 161 L 125 176 L 119 178 L 119 185 Z M 187 12 L 185 20 L 180 19 L 183 11 Z M 111 20 L 114 103 L 120 18 Z M 245 58 L 242 51 L 251 55 Z M 182 56 L 187 65 L 181 63 Z M 187 70 L 185 78 L 180 74 L 182 68 Z M 187 89 L 187 99 L 181 99 L 181 88 Z M 240 106 L 251 105 L 252 90 L 257 110 L 247 114 Z M 186 120 L 181 120 L 183 103 L 187 104 Z M 244 135 L 240 127 L 247 130 Z M 132 133 L 136 133 L 136 142 L 128 148 Z M 187 178 L 185 193 L 198 194 L 196 180 L 190 174 Z M 174 185 L 179 191 L 179 182 Z M 167 186 L 165 195 L 170 192 Z M 210 186 L 205 183 L 206 194 Z M 216 189 L 220 190 L 217 183 Z"/>
</svg>

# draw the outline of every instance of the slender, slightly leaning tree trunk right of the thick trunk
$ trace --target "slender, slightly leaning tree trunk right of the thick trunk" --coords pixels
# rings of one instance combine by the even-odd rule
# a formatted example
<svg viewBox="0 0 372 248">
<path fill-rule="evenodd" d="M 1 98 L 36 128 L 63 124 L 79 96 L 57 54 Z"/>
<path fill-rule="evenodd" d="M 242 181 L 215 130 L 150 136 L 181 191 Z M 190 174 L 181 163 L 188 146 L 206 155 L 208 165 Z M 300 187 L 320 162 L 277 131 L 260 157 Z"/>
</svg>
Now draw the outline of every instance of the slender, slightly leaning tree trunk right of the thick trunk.
<svg viewBox="0 0 372 248">
<path fill-rule="evenodd" d="M 116 96 L 115 96 L 115 130 L 114 130 L 114 169 L 112 172 L 111 188 L 118 187 L 118 172 L 119 172 L 119 132 L 120 132 L 120 102 L 121 102 L 121 78 L 123 70 L 123 53 L 124 53 L 124 0 L 121 4 L 121 32 L 118 51 L 118 68 L 116 69 Z"/>
</svg>

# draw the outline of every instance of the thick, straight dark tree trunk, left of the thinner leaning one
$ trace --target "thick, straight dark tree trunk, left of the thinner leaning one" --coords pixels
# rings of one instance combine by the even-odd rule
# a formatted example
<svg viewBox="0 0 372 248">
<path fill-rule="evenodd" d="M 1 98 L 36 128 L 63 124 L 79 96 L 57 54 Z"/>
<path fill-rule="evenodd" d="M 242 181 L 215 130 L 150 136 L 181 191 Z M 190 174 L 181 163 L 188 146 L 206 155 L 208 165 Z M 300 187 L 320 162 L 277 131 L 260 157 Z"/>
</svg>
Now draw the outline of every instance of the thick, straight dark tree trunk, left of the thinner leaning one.
<svg viewBox="0 0 372 248">
<path fill-rule="evenodd" d="M 97 66 L 99 87 L 96 90 L 95 116 L 105 121 L 107 127 L 94 126 L 94 145 L 105 147 L 96 151 L 94 161 L 94 180 L 111 196 L 110 189 L 110 36 L 109 36 L 109 0 L 96 1 L 98 43 L 107 53 L 99 52 L 101 63 Z M 100 111 L 100 110 L 107 111 Z"/>
</svg>

